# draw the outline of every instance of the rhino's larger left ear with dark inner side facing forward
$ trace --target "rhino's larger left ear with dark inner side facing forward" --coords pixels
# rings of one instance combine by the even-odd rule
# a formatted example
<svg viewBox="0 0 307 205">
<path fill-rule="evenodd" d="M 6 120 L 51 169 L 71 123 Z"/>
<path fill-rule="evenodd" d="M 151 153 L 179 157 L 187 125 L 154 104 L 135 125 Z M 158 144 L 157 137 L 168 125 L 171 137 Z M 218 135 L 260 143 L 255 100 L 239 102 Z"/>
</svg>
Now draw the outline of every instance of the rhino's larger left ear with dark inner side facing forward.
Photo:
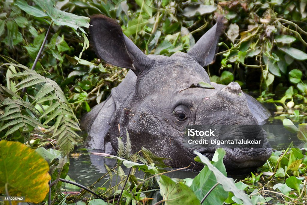
<svg viewBox="0 0 307 205">
<path fill-rule="evenodd" d="M 104 15 L 94 15 L 90 25 L 96 53 L 101 59 L 112 65 L 129 68 L 136 75 L 150 69 L 153 60 L 122 33 L 115 20 Z"/>
</svg>

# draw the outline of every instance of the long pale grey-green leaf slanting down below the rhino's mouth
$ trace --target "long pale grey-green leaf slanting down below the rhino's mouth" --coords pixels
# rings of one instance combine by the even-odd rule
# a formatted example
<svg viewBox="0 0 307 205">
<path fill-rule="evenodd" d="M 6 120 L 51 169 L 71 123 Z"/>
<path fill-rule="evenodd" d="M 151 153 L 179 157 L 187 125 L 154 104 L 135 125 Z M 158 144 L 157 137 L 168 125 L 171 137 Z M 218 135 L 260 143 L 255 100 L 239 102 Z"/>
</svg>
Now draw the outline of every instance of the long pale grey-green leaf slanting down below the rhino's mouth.
<svg viewBox="0 0 307 205">
<path fill-rule="evenodd" d="M 223 189 L 225 191 L 231 191 L 238 199 L 242 200 L 245 205 L 252 204 L 251 199 L 248 198 L 248 195 L 235 186 L 235 183 L 232 178 L 227 178 L 222 172 L 220 172 L 216 167 L 211 164 L 207 157 L 205 157 L 201 153 L 196 151 L 194 151 L 194 153 L 199 157 L 196 157 L 195 160 L 200 161 L 201 163 L 208 166 L 208 168 L 214 173 L 216 181 L 223 186 Z"/>
</svg>

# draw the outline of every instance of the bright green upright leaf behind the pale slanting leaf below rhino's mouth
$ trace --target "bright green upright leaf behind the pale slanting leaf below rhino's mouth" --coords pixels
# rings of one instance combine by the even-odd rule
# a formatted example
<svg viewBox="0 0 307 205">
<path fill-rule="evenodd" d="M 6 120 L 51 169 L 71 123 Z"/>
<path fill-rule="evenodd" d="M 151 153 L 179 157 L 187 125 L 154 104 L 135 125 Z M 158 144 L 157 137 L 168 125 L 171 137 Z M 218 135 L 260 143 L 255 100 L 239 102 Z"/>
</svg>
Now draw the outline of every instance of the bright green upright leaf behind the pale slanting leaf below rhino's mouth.
<svg viewBox="0 0 307 205">
<path fill-rule="evenodd" d="M 213 166 L 216 167 L 224 176 L 227 176 L 223 158 L 226 152 L 223 149 L 217 149 L 214 153 Z M 193 179 L 191 189 L 194 191 L 196 197 L 202 200 L 208 191 L 217 183 L 215 174 L 205 166 L 200 173 Z M 202 204 L 223 204 L 228 197 L 228 191 L 225 191 L 222 185 L 215 187 L 207 196 Z"/>
</svg>

